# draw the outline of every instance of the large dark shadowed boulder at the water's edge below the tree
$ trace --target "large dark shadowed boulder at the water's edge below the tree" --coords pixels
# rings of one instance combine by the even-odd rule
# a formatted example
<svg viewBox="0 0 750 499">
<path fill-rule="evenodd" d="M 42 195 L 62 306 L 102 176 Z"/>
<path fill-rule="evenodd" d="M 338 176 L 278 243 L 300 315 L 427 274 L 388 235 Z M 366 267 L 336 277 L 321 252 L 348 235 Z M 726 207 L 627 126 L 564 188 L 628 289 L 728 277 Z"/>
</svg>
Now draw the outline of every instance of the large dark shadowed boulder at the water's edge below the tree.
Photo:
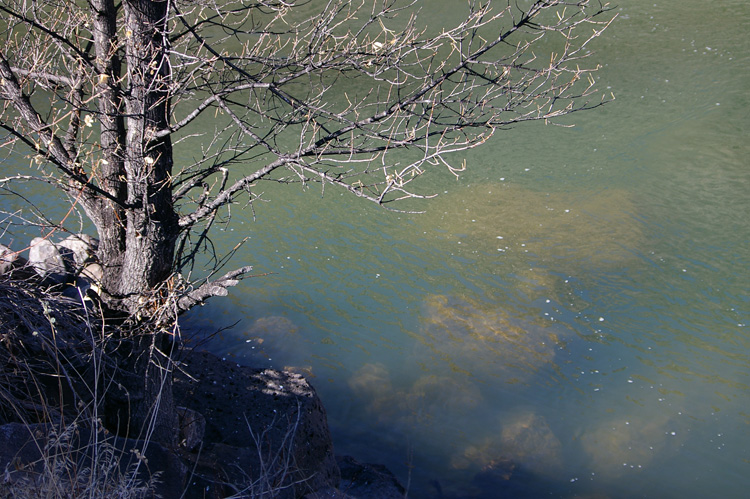
<svg viewBox="0 0 750 499">
<path fill-rule="evenodd" d="M 175 401 L 206 418 L 204 446 L 194 456 L 203 481 L 191 480 L 186 497 L 203 497 L 206 486 L 222 482 L 233 486 L 214 489 L 215 497 L 251 485 L 257 492 L 271 478 L 278 497 L 338 485 L 325 409 L 301 375 L 239 366 L 205 352 L 183 355 Z"/>
</svg>

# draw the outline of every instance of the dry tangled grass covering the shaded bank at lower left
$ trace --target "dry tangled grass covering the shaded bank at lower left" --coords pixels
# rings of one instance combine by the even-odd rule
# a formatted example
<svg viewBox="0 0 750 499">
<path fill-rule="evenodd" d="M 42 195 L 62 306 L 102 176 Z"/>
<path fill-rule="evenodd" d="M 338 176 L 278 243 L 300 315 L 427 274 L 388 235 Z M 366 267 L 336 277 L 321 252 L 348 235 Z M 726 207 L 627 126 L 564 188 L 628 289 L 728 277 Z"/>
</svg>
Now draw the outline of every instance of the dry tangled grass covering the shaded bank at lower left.
<svg viewBox="0 0 750 499">
<path fill-rule="evenodd" d="M 13 498 L 153 497 L 157 475 L 139 472 L 101 424 L 112 383 L 112 335 L 93 302 L 0 276 L 0 424 L 29 432 L 30 463 L 2 470 Z M 34 452 L 35 451 L 35 452 Z M 142 471 L 142 470 L 141 470 Z"/>
</svg>

